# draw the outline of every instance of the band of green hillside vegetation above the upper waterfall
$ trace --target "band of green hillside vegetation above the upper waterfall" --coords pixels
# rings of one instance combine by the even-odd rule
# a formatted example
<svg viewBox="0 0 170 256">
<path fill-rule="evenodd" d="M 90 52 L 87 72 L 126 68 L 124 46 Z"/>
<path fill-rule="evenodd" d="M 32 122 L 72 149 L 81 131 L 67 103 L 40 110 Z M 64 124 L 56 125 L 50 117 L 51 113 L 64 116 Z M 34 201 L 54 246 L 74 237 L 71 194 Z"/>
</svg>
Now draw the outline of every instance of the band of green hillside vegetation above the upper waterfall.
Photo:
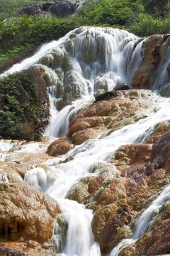
<svg viewBox="0 0 170 256">
<path fill-rule="evenodd" d="M 42 2 L 47 0 L 2 0 L 0 19 L 16 15 L 24 6 Z M 56 40 L 79 26 L 112 26 L 138 36 L 169 33 L 169 14 L 170 4 L 166 0 L 161 4 L 159 0 L 91 0 L 69 18 L 24 15 L 0 21 L 0 66 L 6 68 L 10 60 L 14 63 L 18 56 L 23 57 L 42 43 Z"/>
</svg>

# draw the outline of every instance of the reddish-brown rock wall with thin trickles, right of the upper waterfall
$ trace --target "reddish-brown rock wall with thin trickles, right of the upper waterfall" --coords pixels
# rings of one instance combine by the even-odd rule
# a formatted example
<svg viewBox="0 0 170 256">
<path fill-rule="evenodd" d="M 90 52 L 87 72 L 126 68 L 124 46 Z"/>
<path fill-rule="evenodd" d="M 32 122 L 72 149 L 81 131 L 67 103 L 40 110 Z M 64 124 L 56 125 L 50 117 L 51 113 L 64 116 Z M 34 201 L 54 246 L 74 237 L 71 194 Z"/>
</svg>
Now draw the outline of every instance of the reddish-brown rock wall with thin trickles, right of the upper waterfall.
<svg viewBox="0 0 170 256">
<path fill-rule="evenodd" d="M 169 97 L 167 83 L 170 80 L 170 73 L 169 62 L 166 59 L 169 45 L 169 35 L 153 35 L 144 40 L 143 58 L 132 77 L 132 88 L 154 87 L 160 90 L 162 96 Z"/>
</svg>

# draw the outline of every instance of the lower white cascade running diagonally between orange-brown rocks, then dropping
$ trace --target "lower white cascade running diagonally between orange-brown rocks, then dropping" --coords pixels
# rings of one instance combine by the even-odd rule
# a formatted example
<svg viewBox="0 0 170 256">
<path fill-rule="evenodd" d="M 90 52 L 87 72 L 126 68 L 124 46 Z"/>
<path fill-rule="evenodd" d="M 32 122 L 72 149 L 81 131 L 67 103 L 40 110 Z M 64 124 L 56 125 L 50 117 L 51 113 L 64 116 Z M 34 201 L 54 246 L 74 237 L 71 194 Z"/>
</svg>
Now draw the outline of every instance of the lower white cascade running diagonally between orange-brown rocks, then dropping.
<svg viewBox="0 0 170 256">
<path fill-rule="evenodd" d="M 157 96 L 155 96 L 155 101 L 158 102 Z M 94 164 L 97 162 L 107 163 L 110 154 L 113 154 L 120 145 L 142 143 L 157 123 L 170 119 L 169 100 L 160 98 L 157 107 L 160 107 L 160 110 L 145 119 L 140 119 L 135 124 L 123 127 L 103 139 L 93 139 L 84 142 L 80 146 L 75 146 L 72 151 L 69 151 L 62 158 L 46 161 L 45 164 L 51 166 L 52 171 L 47 171 L 45 174 L 43 169 L 35 168 L 26 174 L 25 180 L 28 183 L 35 186 L 35 188 L 41 188 L 42 191 L 55 198 L 63 210 L 65 221 L 68 223 L 67 240 L 64 247 L 61 248 L 58 242 L 60 234 L 56 226 L 52 242 L 55 244 L 57 253 L 67 256 L 100 255 L 99 246 L 94 242 L 91 232 L 91 220 L 93 218 L 91 210 L 87 210 L 79 203 L 64 198 L 71 186 L 79 178 L 99 174 L 100 170 L 96 170 L 95 174 L 89 173 L 93 169 Z M 72 161 L 57 164 L 57 162 L 69 156 L 73 157 Z M 112 175 L 118 175 L 115 173 L 113 170 Z M 33 177 L 35 178 L 33 179 Z M 124 246 L 127 246 L 127 242 L 131 243 L 133 241 L 134 238 L 120 243 L 113 250 L 112 256 L 118 255 L 115 254 L 117 253 L 116 250 L 119 252 L 123 243 Z"/>
</svg>

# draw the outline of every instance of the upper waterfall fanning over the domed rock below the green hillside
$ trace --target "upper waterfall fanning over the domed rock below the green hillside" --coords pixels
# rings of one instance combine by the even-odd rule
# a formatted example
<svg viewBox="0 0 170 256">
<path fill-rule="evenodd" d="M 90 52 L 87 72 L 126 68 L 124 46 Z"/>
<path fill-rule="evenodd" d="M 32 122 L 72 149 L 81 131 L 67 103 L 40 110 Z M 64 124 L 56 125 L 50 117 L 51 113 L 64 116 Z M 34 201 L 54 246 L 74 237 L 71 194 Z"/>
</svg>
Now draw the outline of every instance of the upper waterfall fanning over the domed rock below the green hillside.
<svg viewBox="0 0 170 256">
<path fill-rule="evenodd" d="M 62 137 L 67 134 L 69 119 L 90 105 L 94 96 L 120 83 L 130 84 L 142 58 L 139 39 L 117 28 L 76 28 L 60 40 L 46 43 L 1 76 L 41 65 L 52 117 L 44 135 Z"/>
</svg>

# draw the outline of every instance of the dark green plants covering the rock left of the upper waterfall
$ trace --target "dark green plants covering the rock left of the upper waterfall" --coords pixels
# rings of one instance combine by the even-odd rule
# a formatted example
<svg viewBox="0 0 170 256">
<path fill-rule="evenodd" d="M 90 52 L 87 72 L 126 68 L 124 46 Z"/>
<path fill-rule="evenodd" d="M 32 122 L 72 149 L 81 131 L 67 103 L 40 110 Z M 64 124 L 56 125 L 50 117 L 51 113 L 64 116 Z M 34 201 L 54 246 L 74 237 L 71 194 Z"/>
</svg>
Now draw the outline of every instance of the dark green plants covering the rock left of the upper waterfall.
<svg viewBox="0 0 170 256">
<path fill-rule="evenodd" d="M 36 85 L 27 75 L 21 73 L 0 79 L 0 134 L 2 137 L 12 139 L 22 137 L 26 134 L 26 122 L 30 122 L 29 118 L 42 119 L 42 110 L 35 102 L 35 87 Z"/>
</svg>

